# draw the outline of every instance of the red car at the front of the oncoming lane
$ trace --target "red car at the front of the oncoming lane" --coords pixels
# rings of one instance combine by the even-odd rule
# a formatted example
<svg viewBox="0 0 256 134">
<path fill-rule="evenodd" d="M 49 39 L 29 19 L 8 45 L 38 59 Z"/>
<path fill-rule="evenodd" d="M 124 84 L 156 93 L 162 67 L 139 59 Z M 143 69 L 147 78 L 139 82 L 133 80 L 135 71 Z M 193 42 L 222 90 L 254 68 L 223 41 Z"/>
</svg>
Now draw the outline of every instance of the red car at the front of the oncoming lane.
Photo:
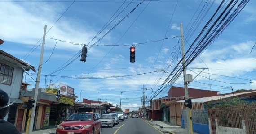
<svg viewBox="0 0 256 134">
<path fill-rule="evenodd" d="M 56 134 L 101 134 L 102 123 L 94 113 L 74 113 L 57 126 Z"/>
</svg>

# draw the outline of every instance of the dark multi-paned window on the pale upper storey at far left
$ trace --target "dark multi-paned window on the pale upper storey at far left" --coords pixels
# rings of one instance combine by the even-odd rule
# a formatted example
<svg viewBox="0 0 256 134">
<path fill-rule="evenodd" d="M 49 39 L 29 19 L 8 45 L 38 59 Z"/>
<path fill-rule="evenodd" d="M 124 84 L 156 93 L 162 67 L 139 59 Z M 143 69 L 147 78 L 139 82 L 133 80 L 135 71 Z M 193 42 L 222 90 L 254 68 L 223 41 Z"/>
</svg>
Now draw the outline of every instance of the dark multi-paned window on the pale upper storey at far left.
<svg viewBox="0 0 256 134">
<path fill-rule="evenodd" d="M 13 78 L 13 67 L 0 63 L 0 83 L 11 85 Z"/>
</svg>

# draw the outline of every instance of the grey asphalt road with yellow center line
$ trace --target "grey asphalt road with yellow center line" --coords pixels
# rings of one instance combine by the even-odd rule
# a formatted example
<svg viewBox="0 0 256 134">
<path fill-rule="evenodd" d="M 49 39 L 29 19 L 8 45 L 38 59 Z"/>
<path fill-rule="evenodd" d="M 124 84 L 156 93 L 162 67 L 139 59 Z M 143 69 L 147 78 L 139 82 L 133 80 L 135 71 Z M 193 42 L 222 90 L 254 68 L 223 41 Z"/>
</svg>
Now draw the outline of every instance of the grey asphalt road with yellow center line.
<svg viewBox="0 0 256 134">
<path fill-rule="evenodd" d="M 119 121 L 113 128 L 102 126 L 102 134 L 164 134 L 141 118 Z"/>
</svg>

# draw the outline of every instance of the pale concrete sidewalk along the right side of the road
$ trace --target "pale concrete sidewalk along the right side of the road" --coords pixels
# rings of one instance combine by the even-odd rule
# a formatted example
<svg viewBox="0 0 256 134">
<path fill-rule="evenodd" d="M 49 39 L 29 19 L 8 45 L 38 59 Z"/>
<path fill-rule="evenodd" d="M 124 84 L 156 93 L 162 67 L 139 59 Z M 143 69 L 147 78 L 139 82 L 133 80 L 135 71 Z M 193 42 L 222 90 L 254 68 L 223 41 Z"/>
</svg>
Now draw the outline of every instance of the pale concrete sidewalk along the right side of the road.
<svg viewBox="0 0 256 134">
<path fill-rule="evenodd" d="M 155 124 L 156 125 L 155 127 L 158 128 L 163 133 L 188 134 L 187 129 L 182 128 L 181 126 L 178 126 L 178 125 L 172 125 L 171 123 L 166 122 L 166 121 L 151 121 L 151 120 L 146 120 L 146 121 L 147 122 L 152 122 L 153 124 Z M 193 134 L 200 134 L 200 133 L 193 132 Z"/>
</svg>

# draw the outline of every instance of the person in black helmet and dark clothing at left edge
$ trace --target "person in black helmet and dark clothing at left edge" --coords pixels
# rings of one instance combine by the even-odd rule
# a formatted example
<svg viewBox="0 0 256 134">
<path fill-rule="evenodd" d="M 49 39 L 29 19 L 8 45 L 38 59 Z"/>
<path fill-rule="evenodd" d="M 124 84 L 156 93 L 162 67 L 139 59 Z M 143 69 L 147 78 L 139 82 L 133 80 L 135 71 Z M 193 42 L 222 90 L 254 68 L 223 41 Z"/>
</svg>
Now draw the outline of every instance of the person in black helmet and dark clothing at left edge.
<svg viewBox="0 0 256 134">
<path fill-rule="evenodd" d="M 9 112 L 9 96 L 0 89 L 0 134 L 22 134 L 10 122 L 4 121 L 4 117 Z"/>
</svg>

